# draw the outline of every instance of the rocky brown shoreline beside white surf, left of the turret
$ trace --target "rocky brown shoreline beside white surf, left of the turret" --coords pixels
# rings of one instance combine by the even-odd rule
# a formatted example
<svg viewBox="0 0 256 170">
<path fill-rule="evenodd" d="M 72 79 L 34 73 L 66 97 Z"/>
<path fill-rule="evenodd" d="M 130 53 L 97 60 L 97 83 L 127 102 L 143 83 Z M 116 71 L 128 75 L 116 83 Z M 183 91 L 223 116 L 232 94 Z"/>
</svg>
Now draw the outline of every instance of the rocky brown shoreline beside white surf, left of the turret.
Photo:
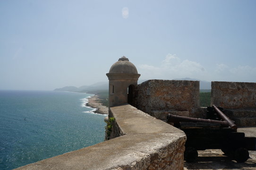
<svg viewBox="0 0 256 170">
<path fill-rule="evenodd" d="M 94 113 L 102 114 L 102 115 L 108 115 L 109 114 L 109 108 L 106 106 L 103 106 L 101 102 L 99 102 L 98 95 L 94 94 L 90 98 L 88 98 L 88 102 L 85 104 L 88 107 L 95 108 L 97 110 L 93 111 Z"/>
</svg>

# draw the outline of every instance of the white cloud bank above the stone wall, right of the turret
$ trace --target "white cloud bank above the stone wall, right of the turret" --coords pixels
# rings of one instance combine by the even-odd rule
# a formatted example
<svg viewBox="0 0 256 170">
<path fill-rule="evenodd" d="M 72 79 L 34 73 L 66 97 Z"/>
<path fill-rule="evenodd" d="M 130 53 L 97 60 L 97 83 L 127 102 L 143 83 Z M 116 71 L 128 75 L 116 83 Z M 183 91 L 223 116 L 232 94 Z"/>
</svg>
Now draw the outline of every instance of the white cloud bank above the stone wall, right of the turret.
<svg viewBox="0 0 256 170">
<path fill-rule="evenodd" d="M 238 81 L 256 82 L 256 67 L 238 66 L 231 68 L 226 64 L 216 64 L 215 67 L 205 69 L 200 63 L 182 60 L 175 54 L 168 54 L 159 66 L 147 64 L 139 65 L 142 79 L 174 79 L 196 78 L 206 81 Z"/>
</svg>

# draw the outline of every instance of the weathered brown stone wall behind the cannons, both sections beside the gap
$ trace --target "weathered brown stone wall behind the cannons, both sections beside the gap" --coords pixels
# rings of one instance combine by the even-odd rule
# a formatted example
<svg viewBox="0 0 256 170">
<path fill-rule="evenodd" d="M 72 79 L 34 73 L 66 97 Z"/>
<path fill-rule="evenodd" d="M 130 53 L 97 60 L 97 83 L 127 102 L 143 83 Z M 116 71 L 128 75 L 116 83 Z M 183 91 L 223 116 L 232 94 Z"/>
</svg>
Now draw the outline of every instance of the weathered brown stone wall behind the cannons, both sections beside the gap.
<svg viewBox="0 0 256 170">
<path fill-rule="evenodd" d="M 137 85 L 135 106 L 157 119 L 168 113 L 205 118 L 199 105 L 199 81 L 148 80 Z M 238 126 L 256 125 L 256 83 L 212 82 L 211 106 L 220 106 Z"/>
</svg>

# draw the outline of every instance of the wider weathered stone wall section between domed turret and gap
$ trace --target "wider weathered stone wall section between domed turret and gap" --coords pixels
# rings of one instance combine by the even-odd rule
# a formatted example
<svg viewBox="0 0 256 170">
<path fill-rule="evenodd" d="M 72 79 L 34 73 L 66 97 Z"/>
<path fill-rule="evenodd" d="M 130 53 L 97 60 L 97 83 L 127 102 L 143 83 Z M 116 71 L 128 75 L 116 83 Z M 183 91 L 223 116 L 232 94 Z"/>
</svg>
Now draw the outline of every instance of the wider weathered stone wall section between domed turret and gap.
<svg viewBox="0 0 256 170">
<path fill-rule="evenodd" d="M 148 80 L 137 89 L 137 108 L 152 116 L 155 110 L 177 110 L 193 117 L 199 108 L 199 81 Z"/>
</svg>

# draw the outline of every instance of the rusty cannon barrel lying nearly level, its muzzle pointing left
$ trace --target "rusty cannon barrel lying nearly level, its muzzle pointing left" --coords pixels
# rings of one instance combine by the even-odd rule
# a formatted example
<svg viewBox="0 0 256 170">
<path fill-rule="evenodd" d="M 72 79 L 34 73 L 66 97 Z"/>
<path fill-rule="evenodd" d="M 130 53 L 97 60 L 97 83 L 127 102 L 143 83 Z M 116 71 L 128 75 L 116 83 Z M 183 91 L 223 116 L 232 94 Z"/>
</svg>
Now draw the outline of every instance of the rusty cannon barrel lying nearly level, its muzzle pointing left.
<svg viewBox="0 0 256 170">
<path fill-rule="evenodd" d="M 228 122 L 227 121 L 220 121 L 220 120 L 212 120 L 212 119 L 200 119 L 200 118 L 190 118 L 190 117 L 185 117 L 185 116 L 177 116 L 177 115 L 172 115 L 169 113 L 167 115 L 167 122 L 170 123 L 178 123 L 178 122 L 206 122 L 206 123 L 218 123 L 221 124 L 225 127 L 228 127 Z"/>
</svg>

